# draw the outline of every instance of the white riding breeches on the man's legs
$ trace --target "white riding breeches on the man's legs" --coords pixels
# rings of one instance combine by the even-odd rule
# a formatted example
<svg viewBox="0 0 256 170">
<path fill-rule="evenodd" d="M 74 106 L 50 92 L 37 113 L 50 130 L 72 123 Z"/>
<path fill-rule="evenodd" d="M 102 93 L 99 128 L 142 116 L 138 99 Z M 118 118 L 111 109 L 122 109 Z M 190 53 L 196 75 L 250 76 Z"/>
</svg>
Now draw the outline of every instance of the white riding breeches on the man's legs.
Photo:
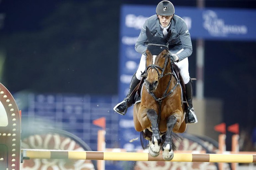
<svg viewBox="0 0 256 170">
<path fill-rule="evenodd" d="M 181 76 L 184 80 L 184 83 L 187 84 L 190 81 L 189 76 L 189 60 L 188 57 L 183 59 L 182 61 L 179 61 L 178 63 L 175 62 L 175 64 L 179 67 Z M 136 72 L 136 78 L 138 80 L 141 80 L 141 72 L 143 73 L 145 71 L 146 66 L 146 56 L 142 54 L 140 59 L 140 65 Z"/>
</svg>

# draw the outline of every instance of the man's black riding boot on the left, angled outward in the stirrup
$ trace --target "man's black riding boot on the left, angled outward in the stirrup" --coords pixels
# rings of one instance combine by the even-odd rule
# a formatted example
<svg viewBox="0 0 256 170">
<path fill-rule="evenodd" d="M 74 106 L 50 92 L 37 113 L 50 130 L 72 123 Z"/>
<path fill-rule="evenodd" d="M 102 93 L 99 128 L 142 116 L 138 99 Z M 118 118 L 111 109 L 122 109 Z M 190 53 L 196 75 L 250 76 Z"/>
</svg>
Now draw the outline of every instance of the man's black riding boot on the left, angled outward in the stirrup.
<svg viewBox="0 0 256 170">
<path fill-rule="evenodd" d="M 130 84 L 130 88 L 128 91 L 128 94 L 126 96 L 126 98 L 124 98 L 124 100 L 120 103 L 118 103 L 115 107 L 114 107 L 114 111 L 121 114 L 121 115 L 125 115 L 127 112 L 127 108 L 130 107 L 133 102 L 134 102 L 134 96 L 136 93 L 132 94 L 132 91 L 135 89 L 135 87 L 140 83 L 140 80 L 138 80 L 136 78 L 136 75 L 134 74 L 131 80 L 131 84 Z M 131 95 L 132 94 L 132 95 Z"/>
</svg>

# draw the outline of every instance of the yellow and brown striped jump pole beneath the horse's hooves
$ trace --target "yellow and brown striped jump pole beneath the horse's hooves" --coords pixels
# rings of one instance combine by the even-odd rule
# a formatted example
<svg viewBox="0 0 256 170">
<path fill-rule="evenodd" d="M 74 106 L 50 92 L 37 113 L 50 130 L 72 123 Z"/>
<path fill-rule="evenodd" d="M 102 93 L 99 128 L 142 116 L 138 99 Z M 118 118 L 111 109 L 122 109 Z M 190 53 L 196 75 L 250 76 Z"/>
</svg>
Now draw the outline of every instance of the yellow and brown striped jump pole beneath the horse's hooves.
<svg viewBox="0 0 256 170">
<path fill-rule="evenodd" d="M 145 152 L 100 152 L 100 151 L 68 151 L 21 149 L 23 159 L 88 159 L 114 161 L 165 161 L 160 153 L 157 157 Z M 174 153 L 175 162 L 227 162 L 256 163 L 253 154 L 193 154 Z"/>
</svg>

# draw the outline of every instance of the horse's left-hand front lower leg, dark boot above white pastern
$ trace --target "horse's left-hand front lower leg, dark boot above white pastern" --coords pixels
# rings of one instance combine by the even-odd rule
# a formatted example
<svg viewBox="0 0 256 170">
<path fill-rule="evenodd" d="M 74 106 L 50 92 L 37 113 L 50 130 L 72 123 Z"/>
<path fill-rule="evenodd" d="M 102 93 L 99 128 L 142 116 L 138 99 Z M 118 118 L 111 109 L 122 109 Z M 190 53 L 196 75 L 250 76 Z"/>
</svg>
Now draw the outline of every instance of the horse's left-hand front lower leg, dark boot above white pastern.
<svg viewBox="0 0 256 170">
<path fill-rule="evenodd" d="M 148 109 L 147 111 L 147 117 L 151 122 L 152 126 L 152 141 L 149 145 L 149 153 L 153 157 L 157 157 L 160 153 L 160 143 L 161 143 L 161 137 L 158 129 L 158 123 L 157 123 L 157 112 L 153 109 Z"/>
</svg>

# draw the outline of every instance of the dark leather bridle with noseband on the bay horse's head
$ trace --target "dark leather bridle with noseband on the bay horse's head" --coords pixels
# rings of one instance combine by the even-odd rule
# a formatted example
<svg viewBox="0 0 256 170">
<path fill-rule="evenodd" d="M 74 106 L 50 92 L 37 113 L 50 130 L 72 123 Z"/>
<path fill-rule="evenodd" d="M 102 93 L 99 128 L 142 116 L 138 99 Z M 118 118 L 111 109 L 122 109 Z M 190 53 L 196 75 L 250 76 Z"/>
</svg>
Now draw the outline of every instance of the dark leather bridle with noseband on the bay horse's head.
<svg viewBox="0 0 256 170">
<path fill-rule="evenodd" d="M 162 44 L 150 44 L 150 43 L 149 43 L 148 45 L 152 45 L 152 46 L 161 46 L 161 47 L 165 47 L 165 48 L 168 49 L 168 43 L 167 43 L 167 45 L 162 45 Z M 168 62 L 169 62 L 169 60 L 170 60 L 169 50 L 168 50 L 167 56 L 165 57 L 165 64 L 164 64 L 164 67 L 163 67 L 163 68 L 161 68 L 161 67 L 159 67 L 158 65 L 155 65 L 155 64 L 150 64 L 150 65 L 147 66 L 147 60 L 146 60 L 146 69 L 145 69 L 145 75 L 146 75 L 146 77 L 148 76 L 148 71 L 149 71 L 150 69 L 155 69 L 155 70 L 157 71 L 158 80 L 159 80 L 160 78 L 164 77 L 164 76 L 167 75 L 167 74 L 171 74 L 171 73 L 167 73 L 167 74 L 164 75 L 164 71 L 165 71 L 165 68 L 166 68 L 166 66 L 167 66 L 167 64 L 168 64 Z M 161 70 L 161 72 L 162 72 L 161 74 L 160 74 L 160 72 L 159 72 L 158 69 Z M 173 69 L 172 69 L 172 64 L 171 64 L 171 70 L 173 71 Z"/>
</svg>

